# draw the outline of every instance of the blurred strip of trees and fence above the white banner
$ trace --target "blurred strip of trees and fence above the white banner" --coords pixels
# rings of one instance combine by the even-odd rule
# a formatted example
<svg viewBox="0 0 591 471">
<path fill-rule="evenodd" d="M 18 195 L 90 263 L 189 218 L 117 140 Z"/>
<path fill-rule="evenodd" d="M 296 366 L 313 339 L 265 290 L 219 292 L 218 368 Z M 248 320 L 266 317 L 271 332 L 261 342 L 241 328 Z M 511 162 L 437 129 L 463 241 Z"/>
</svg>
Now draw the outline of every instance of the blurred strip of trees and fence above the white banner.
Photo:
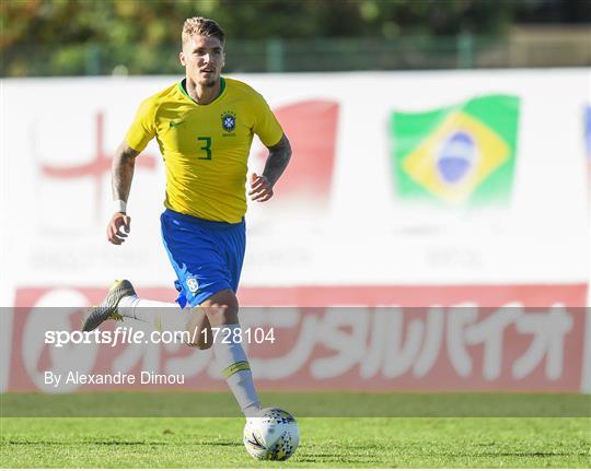
<svg viewBox="0 0 591 471">
<path fill-rule="evenodd" d="M 177 73 L 181 19 L 228 34 L 228 72 L 591 63 L 587 0 L 7 0 L 3 76 Z"/>
</svg>

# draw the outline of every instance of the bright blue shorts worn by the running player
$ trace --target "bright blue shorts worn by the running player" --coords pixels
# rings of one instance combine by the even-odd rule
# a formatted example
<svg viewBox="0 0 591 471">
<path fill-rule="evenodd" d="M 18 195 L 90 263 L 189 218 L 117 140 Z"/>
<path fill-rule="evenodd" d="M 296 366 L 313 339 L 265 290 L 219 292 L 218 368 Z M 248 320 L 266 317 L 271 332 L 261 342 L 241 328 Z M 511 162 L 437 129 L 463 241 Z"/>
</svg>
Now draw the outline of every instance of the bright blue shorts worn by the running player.
<svg viewBox="0 0 591 471">
<path fill-rule="evenodd" d="M 166 209 L 160 216 L 162 240 L 176 272 L 176 302 L 198 306 L 222 290 L 237 291 L 246 229 Z"/>
</svg>

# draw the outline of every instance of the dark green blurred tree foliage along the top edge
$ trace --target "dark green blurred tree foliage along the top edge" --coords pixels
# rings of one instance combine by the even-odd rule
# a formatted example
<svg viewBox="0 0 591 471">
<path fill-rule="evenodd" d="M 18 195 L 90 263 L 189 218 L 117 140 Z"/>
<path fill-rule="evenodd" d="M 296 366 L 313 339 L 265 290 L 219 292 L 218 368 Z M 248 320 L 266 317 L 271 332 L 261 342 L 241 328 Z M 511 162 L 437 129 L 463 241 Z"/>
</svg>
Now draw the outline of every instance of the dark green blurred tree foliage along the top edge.
<svg viewBox="0 0 591 471">
<path fill-rule="evenodd" d="M 94 50 L 89 47 L 103 55 L 136 50 L 149 59 L 151 50 L 178 46 L 184 19 L 197 15 L 216 19 L 230 43 L 274 37 L 395 40 L 462 32 L 502 35 L 515 15 L 533 14 L 548 1 L 525 3 L 530 8 L 517 0 L 2 0 L 2 72 L 31 73 L 27 55 L 42 56 L 67 72 L 88 71 Z"/>
</svg>

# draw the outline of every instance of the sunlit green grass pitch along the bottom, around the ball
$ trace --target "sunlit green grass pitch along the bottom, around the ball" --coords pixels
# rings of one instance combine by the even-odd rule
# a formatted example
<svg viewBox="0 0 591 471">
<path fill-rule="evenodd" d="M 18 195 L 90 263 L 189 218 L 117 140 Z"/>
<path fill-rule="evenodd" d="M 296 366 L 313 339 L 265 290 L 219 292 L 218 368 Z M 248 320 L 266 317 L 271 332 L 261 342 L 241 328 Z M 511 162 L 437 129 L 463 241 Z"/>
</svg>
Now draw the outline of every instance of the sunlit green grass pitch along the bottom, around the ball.
<svg viewBox="0 0 591 471">
<path fill-rule="evenodd" d="M 162 396 L 162 400 L 171 399 Z M 198 395 L 184 398 L 189 396 L 194 400 L 202 399 Z M 15 411 L 7 397 L 10 396 L 4 395 L 2 400 L 3 415 L 5 411 Z M 73 402 L 86 398 L 63 397 Z M 252 459 L 242 445 L 242 417 L 3 416 L 1 467 L 591 467 L 589 416 L 299 416 L 298 421 L 301 443 L 294 456 L 287 462 L 260 462 Z"/>
</svg>

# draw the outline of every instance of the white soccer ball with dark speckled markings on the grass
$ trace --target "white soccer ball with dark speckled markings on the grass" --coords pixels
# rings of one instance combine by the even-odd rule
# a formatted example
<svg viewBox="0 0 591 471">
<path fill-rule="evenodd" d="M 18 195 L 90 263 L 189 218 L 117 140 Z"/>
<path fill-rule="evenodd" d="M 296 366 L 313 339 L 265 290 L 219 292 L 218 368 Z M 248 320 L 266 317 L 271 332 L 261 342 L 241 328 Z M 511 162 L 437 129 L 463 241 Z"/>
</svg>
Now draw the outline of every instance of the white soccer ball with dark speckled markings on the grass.
<svg viewBox="0 0 591 471">
<path fill-rule="evenodd" d="M 259 460 L 285 461 L 299 443 L 298 423 L 282 409 L 263 409 L 260 416 L 248 417 L 244 426 L 246 451 Z"/>
</svg>

